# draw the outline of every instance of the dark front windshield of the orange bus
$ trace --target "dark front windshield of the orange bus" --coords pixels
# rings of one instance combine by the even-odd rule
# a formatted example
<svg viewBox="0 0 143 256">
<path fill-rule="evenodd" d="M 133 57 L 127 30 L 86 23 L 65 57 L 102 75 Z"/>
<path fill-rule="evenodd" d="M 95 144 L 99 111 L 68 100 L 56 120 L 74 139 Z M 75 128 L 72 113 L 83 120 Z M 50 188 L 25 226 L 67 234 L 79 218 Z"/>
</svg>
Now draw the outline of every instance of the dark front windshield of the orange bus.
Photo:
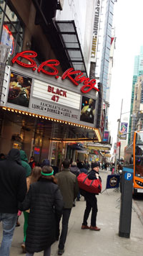
<svg viewBox="0 0 143 256">
<path fill-rule="evenodd" d="M 136 145 L 135 176 L 137 176 L 139 178 L 143 178 L 143 145 Z"/>
</svg>

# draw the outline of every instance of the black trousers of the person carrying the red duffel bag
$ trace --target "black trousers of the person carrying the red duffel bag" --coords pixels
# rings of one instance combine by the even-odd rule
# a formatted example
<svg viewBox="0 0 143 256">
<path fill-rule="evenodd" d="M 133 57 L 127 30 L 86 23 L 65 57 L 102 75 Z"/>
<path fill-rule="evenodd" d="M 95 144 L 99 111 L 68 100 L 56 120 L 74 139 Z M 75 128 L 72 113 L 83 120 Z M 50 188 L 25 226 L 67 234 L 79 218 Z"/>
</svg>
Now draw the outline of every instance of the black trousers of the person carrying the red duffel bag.
<svg viewBox="0 0 143 256">
<path fill-rule="evenodd" d="M 86 200 L 86 209 L 84 211 L 84 221 L 82 224 L 87 226 L 87 219 L 89 218 L 90 211 L 92 210 L 91 226 L 97 227 L 97 198 L 92 193 L 87 193 L 84 198 Z"/>
</svg>

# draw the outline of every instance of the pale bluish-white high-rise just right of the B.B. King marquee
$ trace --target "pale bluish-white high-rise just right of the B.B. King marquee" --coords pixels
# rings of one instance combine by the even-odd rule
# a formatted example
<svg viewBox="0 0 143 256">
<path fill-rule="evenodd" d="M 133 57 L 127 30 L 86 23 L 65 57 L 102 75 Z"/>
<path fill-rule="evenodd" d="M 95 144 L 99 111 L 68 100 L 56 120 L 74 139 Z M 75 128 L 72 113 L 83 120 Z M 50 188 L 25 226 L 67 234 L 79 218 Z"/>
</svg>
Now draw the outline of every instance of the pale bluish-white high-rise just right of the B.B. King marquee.
<svg viewBox="0 0 143 256">
<path fill-rule="evenodd" d="M 104 129 L 108 131 L 109 94 L 112 79 L 112 63 L 114 56 L 115 35 L 112 29 L 114 0 L 102 1 L 99 20 L 99 40 L 97 43 L 96 78 L 102 83 Z"/>
</svg>

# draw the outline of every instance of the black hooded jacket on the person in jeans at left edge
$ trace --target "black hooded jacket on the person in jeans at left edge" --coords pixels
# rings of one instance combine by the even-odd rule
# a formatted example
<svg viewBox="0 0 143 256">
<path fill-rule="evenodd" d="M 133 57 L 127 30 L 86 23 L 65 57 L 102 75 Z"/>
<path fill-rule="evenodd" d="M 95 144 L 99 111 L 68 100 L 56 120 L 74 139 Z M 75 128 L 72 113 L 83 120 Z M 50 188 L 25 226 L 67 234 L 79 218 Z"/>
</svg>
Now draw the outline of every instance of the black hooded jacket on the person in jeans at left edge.
<svg viewBox="0 0 143 256">
<path fill-rule="evenodd" d="M 20 152 L 13 148 L 6 160 L 0 162 L 0 213 L 16 214 L 18 201 L 24 200 L 26 189 Z"/>
</svg>

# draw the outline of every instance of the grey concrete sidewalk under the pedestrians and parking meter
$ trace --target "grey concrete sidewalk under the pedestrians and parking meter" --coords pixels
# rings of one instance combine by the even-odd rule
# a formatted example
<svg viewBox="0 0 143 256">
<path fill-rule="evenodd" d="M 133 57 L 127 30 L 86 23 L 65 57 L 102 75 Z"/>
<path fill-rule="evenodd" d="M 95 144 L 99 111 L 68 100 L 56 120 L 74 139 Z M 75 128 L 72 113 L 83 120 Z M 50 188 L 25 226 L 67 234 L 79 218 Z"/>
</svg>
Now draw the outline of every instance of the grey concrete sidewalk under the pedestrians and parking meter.
<svg viewBox="0 0 143 256">
<path fill-rule="evenodd" d="M 102 191 L 106 187 L 107 175 L 109 171 L 101 170 Z M 108 189 L 97 196 L 98 214 L 97 226 L 101 228 L 99 232 L 82 230 L 82 219 L 85 209 L 85 201 L 82 197 L 76 202 L 76 207 L 71 211 L 69 219 L 69 231 L 66 238 L 64 256 L 138 256 L 142 255 L 143 225 L 139 219 L 137 205 L 133 201 L 132 225 L 130 238 L 119 237 L 119 212 L 120 212 L 120 192 L 119 190 Z M 23 240 L 23 215 L 20 216 L 20 227 L 16 227 L 11 246 L 11 256 L 22 254 L 21 242 Z M 90 225 L 90 216 L 89 223 Z M 1 239 L 0 225 L 0 239 Z M 51 246 L 51 255 L 56 256 L 58 242 Z M 41 256 L 43 252 L 35 253 Z"/>
</svg>

